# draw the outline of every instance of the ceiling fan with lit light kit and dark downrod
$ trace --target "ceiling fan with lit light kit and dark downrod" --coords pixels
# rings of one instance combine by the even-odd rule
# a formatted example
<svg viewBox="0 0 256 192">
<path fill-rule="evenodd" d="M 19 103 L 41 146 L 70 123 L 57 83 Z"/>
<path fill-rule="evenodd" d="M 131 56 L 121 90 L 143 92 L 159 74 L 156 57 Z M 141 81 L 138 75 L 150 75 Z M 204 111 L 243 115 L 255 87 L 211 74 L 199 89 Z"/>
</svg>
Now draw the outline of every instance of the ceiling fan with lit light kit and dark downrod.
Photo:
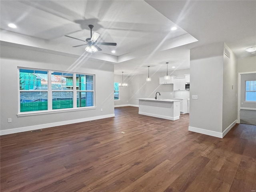
<svg viewBox="0 0 256 192">
<path fill-rule="evenodd" d="M 100 34 L 97 33 L 97 32 L 94 32 L 93 35 L 92 35 L 92 28 L 93 28 L 93 27 L 94 27 L 93 25 L 89 25 L 89 28 L 91 29 L 91 38 L 87 38 L 86 40 L 78 39 L 78 38 L 71 37 L 71 36 L 68 36 L 68 35 L 65 35 L 65 37 L 69 37 L 69 38 L 72 38 L 72 39 L 76 39 L 76 40 L 79 40 L 79 41 L 86 42 L 86 44 L 76 45 L 76 46 L 73 46 L 73 47 L 80 47 L 80 46 L 85 46 L 85 45 L 87 45 L 87 47 L 85 48 L 85 50 L 86 50 L 87 52 L 90 52 L 90 53 L 94 53 L 94 52 L 96 52 L 96 51 L 101 51 L 102 49 L 99 48 L 98 45 L 111 45 L 111 46 L 116 46 L 116 43 L 97 42 L 97 39 L 99 38 Z"/>
</svg>

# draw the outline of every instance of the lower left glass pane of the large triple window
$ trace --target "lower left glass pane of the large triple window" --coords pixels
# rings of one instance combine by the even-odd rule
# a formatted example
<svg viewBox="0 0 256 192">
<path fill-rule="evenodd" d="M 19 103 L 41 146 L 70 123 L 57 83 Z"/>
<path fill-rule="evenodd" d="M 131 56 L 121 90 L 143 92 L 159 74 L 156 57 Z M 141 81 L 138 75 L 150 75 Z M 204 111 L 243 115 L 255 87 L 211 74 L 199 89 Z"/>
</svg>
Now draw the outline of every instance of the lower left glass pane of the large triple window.
<svg viewBox="0 0 256 192">
<path fill-rule="evenodd" d="M 47 92 L 20 92 L 20 112 L 48 110 Z"/>
</svg>

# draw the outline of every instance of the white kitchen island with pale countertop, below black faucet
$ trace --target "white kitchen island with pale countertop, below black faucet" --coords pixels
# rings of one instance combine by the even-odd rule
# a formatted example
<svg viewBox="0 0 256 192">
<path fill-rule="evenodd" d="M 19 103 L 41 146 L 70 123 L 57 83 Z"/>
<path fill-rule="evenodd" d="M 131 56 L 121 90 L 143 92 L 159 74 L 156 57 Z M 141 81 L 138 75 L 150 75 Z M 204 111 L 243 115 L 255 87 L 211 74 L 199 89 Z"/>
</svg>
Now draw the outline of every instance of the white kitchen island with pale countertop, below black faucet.
<svg viewBox="0 0 256 192">
<path fill-rule="evenodd" d="M 168 120 L 180 118 L 180 100 L 139 98 L 139 114 Z"/>
</svg>

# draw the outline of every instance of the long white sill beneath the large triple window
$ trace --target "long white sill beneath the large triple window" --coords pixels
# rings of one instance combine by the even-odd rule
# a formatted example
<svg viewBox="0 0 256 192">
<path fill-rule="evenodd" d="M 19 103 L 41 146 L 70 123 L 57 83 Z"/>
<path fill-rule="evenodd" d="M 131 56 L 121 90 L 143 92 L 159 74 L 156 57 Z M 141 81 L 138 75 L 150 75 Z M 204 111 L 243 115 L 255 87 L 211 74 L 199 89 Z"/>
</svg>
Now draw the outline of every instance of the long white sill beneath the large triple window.
<svg viewBox="0 0 256 192">
<path fill-rule="evenodd" d="M 61 113 L 61 112 L 72 112 L 72 111 L 81 111 L 81 110 L 90 110 L 96 109 L 96 107 L 86 107 L 86 108 L 75 108 L 75 109 L 59 109 L 59 110 L 51 110 L 51 111 L 41 111 L 41 112 L 23 112 L 17 114 L 18 117 L 22 116 L 33 116 L 33 115 L 43 115 L 43 114 L 52 114 L 52 113 Z"/>
</svg>

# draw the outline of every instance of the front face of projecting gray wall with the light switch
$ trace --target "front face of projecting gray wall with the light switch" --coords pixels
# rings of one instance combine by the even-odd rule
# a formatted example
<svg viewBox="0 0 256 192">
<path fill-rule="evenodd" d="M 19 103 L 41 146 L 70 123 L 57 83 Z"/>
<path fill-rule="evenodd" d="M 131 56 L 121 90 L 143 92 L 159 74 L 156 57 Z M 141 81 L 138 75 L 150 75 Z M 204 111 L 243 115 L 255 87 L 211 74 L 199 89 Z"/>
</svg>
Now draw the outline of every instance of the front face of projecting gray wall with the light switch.
<svg viewBox="0 0 256 192">
<path fill-rule="evenodd" d="M 223 46 L 217 43 L 190 50 L 191 127 L 222 132 Z"/>
</svg>

